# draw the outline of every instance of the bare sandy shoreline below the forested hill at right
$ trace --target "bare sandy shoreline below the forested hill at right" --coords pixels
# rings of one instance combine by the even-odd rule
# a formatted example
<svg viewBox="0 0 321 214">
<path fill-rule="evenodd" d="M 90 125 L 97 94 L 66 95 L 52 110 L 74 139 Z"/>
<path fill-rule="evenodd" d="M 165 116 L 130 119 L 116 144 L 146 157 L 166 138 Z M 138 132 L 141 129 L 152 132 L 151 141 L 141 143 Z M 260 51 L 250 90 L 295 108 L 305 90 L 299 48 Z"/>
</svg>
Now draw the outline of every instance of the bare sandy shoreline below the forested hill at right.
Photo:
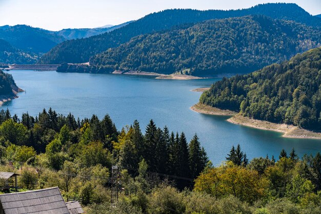
<svg viewBox="0 0 321 214">
<path fill-rule="evenodd" d="M 256 120 L 249 117 L 244 117 L 242 115 L 239 115 L 236 112 L 233 112 L 234 115 L 227 114 L 226 111 L 229 111 L 229 110 L 220 110 L 201 103 L 197 103 L 193 105 L 190 109 L 202 114 L 232 116 L 229 119 L 227 119 L 227 121 L 230 123 L 234 123 L 237 125 L 244 125 L 244 126 L 252 127 L 254 129 L 284 133 L 282 137 L 286 137 L 286 138 L 321 139 L 321 133 L 305 130 L 295 125 L 289 125 L 285 123 L 273 123 L 273 122 L 264 121 L 264 120 Z"/>
</svg>

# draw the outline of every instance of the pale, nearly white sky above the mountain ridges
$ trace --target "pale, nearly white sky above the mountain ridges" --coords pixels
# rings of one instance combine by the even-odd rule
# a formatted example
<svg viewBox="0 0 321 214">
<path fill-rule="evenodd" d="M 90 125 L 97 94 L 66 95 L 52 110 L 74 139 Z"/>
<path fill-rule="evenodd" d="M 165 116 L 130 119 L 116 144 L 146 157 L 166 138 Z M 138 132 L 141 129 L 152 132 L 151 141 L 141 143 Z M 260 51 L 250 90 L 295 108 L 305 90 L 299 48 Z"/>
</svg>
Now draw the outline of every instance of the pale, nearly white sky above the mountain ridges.
<svg viewBox="0 0 321 214">
<path fill-rule="evenodd" d="M 0 26 L 30 25 L 47 30 L 118 25 L 149 13 L 173 8 L 242 9 L 264 0 L 0 0 Z M 321 13 L 321 0 L 283 0 L 312 15 Z"/>
</svg>

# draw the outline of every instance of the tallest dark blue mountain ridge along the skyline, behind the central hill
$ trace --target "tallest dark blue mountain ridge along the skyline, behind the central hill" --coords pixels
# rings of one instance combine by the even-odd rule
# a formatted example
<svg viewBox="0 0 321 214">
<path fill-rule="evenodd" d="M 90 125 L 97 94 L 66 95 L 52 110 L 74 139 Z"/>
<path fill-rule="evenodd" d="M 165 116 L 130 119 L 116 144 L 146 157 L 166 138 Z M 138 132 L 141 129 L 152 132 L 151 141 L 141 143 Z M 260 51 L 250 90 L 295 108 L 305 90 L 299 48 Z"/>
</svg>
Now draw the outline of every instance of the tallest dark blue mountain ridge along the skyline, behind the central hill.
<svg viewBox="0 0 321 214">
<path fill-rule="evenodd" d="M 82 63 L 97 53 L 118 47 L 132 37 L 171 29 L 173 26 L 198 23 L 214 18 L 239 17 L 262 14 L 276 19 L 294 20 L 309 26 L 321 26 L 321 20 L 310 15 L 296 4 L 263 4 L 243 10 L 191 10 L 173 9 L 149 14 L 125 27 L 85 39 L 69 40 L 54 47 L 42 56 L 39 63 Z"/>
</svg>

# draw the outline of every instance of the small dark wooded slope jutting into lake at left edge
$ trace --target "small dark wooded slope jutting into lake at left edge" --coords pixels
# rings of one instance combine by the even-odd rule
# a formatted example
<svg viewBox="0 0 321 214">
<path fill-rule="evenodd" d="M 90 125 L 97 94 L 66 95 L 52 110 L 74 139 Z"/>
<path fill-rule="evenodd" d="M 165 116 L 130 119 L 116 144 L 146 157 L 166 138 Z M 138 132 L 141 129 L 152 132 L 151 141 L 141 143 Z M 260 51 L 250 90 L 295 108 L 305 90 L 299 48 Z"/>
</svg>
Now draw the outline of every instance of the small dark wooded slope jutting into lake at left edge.
<svg viewBox="0 0 321 214">
<path fill-rule="evenodd" d="M 14 96 L 16 92 L 18 92 L 18 87 L 15 84 L 12 75 L 0 70 L 0 96 Z"/>
</svg>

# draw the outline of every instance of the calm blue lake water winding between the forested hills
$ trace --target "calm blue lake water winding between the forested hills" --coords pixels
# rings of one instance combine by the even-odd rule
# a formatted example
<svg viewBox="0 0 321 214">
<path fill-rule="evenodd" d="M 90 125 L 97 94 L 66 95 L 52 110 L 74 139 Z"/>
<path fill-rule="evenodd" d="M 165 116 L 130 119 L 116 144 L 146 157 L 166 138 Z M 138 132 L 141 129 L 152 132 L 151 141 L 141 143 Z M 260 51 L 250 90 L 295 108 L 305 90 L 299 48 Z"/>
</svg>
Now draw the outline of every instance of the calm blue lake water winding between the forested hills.
<svg viewBox="0 0 321 214">
<path fill-rule="evenodd" d="M 209 87 L 217 79 L 164 80 L 150 76 L 114 74 L 78 74 L 10 71 L 18 87 L 26 90 L 19 98 L 1 108 L 21 117 L 23 112 L 36 116 L 49 107 L 57 113 L 75 117 L 103 118 L 108 113 L 118 129 L 135 119 L 142 130 L 150 119 L 170 131 L 184 131 L 188 140 L 197 133 L 210 160 L 219 164 L 231 146 L 241 145 L 249 159 L 267 154 L 276 158 L 282 148 L 290 153 L 294 147 L 299 156 L 321 151 L 321 140 L 283 138 L 282 133 L 252 129 L 226 121 L 226 116 L 193 112 L 201 93 L 192 89 Z"/>
</svg>

